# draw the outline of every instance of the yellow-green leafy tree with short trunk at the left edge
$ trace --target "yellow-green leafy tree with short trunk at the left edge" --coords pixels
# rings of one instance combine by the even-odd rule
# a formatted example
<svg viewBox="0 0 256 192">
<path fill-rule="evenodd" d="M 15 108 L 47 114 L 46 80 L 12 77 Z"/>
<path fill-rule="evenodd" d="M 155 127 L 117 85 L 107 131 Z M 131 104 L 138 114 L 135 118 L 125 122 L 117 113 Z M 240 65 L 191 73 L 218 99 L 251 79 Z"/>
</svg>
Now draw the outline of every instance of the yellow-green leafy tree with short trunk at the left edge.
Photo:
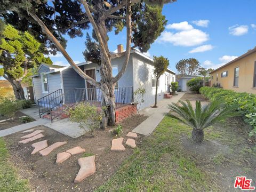
<svg viewBox="0 0 256 192">
<path fill-rule="evenodd" d="M 0 31 L 0 76 L 9 81 L 17 100 L 25 99 L 20 81 L 31 74 L 31 68 L 36 68 L 42 62 L 52 64 L 50 58 L 45 58 L 40 51 L 41 43 L 28 32 L 20 33 L 11 25 L 4 26 Z"/>
</svg>

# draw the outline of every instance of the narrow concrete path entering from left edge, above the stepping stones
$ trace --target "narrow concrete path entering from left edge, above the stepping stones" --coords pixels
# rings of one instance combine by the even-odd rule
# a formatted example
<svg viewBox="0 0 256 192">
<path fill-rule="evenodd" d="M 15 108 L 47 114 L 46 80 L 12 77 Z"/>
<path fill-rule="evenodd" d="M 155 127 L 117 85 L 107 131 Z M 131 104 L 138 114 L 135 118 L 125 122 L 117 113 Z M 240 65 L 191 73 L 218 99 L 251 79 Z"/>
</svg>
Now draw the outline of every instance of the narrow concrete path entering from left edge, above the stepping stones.
<svg viewBox="0 0 256 192">
<path fill-rule="evenodd" d="M 25 124 L 21 124 L 21 125 L 11 127 L 9 129 L 1 130 L 0 131 L 0 137 L 4 137 L 4 136 L 12 134 L 12 133 L 17 133 L 19 131 L 28 130 L 28 129 L 31 129 L 31 128 L 36 127 L 36 126 L 43 125 L 47 122 L 49 122 L 49 119 L 38 119 L 34 122 L 25 123 Z"/>
</svg>

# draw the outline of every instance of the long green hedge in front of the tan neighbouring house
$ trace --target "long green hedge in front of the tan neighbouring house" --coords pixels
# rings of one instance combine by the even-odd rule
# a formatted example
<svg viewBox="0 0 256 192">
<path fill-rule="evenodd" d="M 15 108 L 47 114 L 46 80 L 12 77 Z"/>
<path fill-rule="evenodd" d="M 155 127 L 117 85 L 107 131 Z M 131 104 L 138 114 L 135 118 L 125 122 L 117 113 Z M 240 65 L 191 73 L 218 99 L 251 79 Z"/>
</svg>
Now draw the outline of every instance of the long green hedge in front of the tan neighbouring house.
<svg viewBox="0 0 256 192">
<path fill-rule="evenodd" d="M 201 87 L 199 92 L 211 101 L 222 100 L 226 105 L 236 104 L 237 110 L 243 112 L 245 122 L 253 127 L 250 137 L 256 135 L 256 94 L 238 93 L 216 87 Z"/>
</svg>

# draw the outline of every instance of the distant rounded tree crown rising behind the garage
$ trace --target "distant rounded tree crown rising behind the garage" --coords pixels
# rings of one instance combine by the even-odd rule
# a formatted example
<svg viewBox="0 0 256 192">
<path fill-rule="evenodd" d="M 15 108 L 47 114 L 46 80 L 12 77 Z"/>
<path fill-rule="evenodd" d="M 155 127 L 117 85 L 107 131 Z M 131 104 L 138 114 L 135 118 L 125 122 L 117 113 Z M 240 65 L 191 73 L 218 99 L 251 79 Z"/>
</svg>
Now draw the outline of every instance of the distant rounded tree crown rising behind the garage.
<svg viewBox="0 0 256 192">
<path fill-rule="evenodd" d="M 196 75 L 200 68 L 200 63 L 195 58 L 182 59 L 176 63 L 175 67 L 179 74 Z"/>
</svg>

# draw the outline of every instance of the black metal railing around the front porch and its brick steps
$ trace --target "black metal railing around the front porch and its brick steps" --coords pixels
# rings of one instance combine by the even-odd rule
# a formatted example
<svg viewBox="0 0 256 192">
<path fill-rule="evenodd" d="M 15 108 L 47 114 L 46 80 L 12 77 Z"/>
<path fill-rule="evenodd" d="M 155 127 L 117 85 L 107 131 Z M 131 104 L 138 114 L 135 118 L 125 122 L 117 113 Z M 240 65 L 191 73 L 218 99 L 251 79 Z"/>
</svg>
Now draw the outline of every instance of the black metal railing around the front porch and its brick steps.
<svg viewBox="0 0 256 192">
<path fill-rule="evenodd" d="M 133 87 L 116 87 L 114 93 L 116 108 L 133 102 Z M 65 113 L 76 103 L 88 102 L 90 105 L 100 107 L 101 101 L 100 88 L 78 88 L 65 91 L 65 93 L 62 93 L 62 90 L 59 89 L 38 99 L 37 103 L 40 118 L 41 115 L 48 112 L 52 122 L 54 118 Z"/>
</svg>

